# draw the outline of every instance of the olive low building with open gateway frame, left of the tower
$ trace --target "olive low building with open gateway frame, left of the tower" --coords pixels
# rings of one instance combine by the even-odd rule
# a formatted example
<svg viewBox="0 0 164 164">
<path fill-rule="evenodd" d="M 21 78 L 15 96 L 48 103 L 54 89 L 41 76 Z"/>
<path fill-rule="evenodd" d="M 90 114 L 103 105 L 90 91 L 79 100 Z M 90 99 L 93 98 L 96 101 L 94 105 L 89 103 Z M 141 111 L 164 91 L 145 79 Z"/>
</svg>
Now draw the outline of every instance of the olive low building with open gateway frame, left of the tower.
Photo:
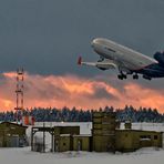
<svg viewBox="0 0 164 164">
<path fill-rule="evenodd" d="M 34 134 L 38 132 L 49 132 L 51 134 L 51 151 L 52 152 L 65 152 L 73 150 L 73 135 L 80 134 L 80 126 L 34 126 L 31 131 L 31 151 L 41 150 L 45 151 L 45 135 L 42 144 L 34 141 Z M 38 144 L 39 143 L 39 144 Z M 39 148 L 38 148 L 39 145 Z M 42 147 L 41 147 L 42 146 Z"/>
</svg>

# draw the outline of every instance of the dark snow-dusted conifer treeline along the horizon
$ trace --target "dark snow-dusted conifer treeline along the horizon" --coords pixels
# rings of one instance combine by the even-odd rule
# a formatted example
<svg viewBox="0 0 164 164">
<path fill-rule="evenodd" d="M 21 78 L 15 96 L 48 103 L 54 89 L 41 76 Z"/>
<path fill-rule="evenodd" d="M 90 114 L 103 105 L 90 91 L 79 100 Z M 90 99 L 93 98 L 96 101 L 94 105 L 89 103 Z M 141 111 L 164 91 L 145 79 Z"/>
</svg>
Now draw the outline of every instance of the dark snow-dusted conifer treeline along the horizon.
<svg viewBox="0 0 164 164">
<path fill-rule="evenodd" d="M 93 111 L 114 111 L 116 119 L 124 122 L 131 120 L 132 122 L 164 122 L 164 114 L 160 113 L 156 109 L 125 106 L 124 109 L 114 109 L 106 106 L 99 110 L 79 110 L 79 109 L 55 109 L 55 107 L 33 107 L 23 111 L 23 115 L 34 116 L 37 122 L 91 122 Z M 18 116 L 20 117 L 20 112 Z M 0 112 L 0 121 L 16 121 L 17 113 Z"/>
</svg>

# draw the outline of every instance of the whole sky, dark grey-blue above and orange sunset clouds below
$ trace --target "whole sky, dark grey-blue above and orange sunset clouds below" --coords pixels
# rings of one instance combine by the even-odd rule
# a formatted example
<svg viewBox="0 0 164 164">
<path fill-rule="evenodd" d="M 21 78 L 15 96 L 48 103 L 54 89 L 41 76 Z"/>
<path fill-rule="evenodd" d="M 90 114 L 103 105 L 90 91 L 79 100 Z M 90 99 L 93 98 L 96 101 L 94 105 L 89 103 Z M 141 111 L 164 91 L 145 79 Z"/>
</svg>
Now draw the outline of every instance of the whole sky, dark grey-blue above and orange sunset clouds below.
<svg viewBox="0 0 164 164">
<path fill-rule="evenodd" d="M 164 79 L 116 79 L 117 71 L 79 68 L 96 61 L 91 48 L 103 37 L 153 57 L 164 50 L 163 0 L 1 0 L 0 109 L 16 106 L 17 68 L 25 70 L 24 106 L 157 107 Z"/>
</svg>

